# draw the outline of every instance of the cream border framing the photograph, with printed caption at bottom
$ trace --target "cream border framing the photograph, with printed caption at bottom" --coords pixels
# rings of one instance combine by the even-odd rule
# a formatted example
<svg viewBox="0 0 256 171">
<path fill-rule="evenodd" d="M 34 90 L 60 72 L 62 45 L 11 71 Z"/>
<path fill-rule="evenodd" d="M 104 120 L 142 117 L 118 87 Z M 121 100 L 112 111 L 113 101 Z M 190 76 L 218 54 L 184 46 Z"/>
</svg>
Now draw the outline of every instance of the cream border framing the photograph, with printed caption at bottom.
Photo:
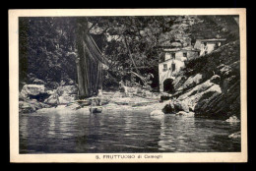
<svg viewBox="0 0 256 171">
<path fill-rule="evenodd" d="M 239 15 L 241 73 L 241 152 L 152 153 L 160 159 L 146 159 L 146 153 L 107 153 L 135 155 L 132 159 L 102 159 L 104 153 L 19 154 L 19 17 L 75 16 L 174 16 Z M 10 161 L 11 162 L 247 162 L 247 75 L 245 9 L 81 9 L 81 10 L 9 10 L 9 84 L 10 84 Z M 147 153 L 150 154 L 150 153 Z M 98 155 L 101 159 L 96 159 Z"/>
</svg>

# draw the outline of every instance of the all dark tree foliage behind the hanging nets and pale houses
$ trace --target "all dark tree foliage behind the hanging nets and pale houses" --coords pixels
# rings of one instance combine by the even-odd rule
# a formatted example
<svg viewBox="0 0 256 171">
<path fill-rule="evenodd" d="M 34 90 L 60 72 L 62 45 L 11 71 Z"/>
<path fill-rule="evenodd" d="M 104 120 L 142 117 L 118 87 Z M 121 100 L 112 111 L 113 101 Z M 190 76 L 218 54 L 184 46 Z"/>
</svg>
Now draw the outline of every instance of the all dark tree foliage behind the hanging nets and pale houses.
<svg viewBox="0 0 256 171">
<path fill-rule="evenodd" d="M 43 81 L 59 83 L 65 78 L 75 81 L 76 43 L 81 36 L 77 26 L 81 20 L 88 21 L 89 33 L 108 59 L 107 72 L 118 81 L 130 71 L 135 72 L 136 67 L 140 72 L 143 71 L 140 68 L 148 68 L 150 72 L 152 68 L 158 69 L 163 46 L 188 46 L 197 38 L 237 39 L 239 29 L 233 17 L 20 18 L 20 81 L 28 82 L 30 73 Z M 158 74 L 154 72 L 154 75 Z"/>
</svg>

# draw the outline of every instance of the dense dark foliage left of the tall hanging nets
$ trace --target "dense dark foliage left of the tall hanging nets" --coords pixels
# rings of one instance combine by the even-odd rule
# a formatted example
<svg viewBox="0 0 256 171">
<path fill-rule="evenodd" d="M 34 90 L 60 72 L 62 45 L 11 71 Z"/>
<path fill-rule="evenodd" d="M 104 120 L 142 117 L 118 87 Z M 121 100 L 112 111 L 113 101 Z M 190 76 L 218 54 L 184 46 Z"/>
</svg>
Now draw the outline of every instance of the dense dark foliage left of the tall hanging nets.
<svg viewBox="0 0 256 171">
<path fill-rule="evenodd" d="M 32 73 L 43 81 L 75 80 L 75 19 L 20 18 L 20 79 Z"/>
</svg>

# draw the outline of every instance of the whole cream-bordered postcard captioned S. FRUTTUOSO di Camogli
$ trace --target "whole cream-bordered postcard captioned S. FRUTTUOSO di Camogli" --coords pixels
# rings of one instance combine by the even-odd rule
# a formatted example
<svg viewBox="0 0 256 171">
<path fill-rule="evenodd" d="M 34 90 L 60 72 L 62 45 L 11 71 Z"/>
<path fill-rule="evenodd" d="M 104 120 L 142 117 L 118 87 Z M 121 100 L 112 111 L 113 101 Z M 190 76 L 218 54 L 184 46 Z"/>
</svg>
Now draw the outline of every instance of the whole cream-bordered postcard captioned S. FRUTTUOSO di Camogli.
<svg viewBox="0 0 256 171">
<path fill-rule="evenodd" d="M 10 11 L 11 155 L 171 162 L 165 154 L 209 153 L 213 162 L 225 161 L 216 154 L 246 161 L 246 26 L 244 9 L 236 10 Z"/>
</svg>

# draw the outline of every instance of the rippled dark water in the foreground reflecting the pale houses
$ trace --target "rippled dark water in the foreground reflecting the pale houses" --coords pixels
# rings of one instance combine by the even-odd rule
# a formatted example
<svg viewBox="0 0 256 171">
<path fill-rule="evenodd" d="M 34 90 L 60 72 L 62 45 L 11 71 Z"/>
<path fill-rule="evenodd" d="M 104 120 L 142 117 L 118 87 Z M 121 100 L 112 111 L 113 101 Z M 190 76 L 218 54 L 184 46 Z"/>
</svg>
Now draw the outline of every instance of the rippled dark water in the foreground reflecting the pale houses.
<svg viewBox="0 0 256 171">
<path fill-rule="evenodd" d="M 240 126 L 139 110 L 22 114 L 21 153 L 239 151 Z"/>
</svg>

